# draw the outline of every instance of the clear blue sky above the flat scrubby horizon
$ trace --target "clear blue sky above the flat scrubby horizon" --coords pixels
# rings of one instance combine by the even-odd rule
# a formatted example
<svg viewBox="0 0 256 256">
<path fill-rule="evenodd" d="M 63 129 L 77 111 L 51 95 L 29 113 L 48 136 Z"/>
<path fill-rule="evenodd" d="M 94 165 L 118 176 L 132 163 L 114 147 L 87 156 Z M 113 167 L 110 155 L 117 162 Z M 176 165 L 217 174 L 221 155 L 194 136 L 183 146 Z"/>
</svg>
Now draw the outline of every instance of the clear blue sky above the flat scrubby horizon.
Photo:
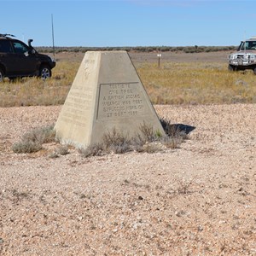
<svg viewBox="0 0 256 256">
<path fill-rule="evenodd" d="M 35 46 L 226 46 L 256 36 L 253 0 L 0 0 L 0 32 Z"/>
</svg>

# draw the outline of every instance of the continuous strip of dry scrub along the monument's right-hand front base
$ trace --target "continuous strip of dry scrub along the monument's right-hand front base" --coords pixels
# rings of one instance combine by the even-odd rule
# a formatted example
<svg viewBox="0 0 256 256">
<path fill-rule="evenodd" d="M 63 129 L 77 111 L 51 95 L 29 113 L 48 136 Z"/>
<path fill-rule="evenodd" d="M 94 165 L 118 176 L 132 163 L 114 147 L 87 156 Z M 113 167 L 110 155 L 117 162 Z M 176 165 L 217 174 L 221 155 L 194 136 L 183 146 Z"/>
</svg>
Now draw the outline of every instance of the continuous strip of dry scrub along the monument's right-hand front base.
<svg viewBox="0 0 256 256">
<path fill-rule="evenodd" d="M 154 153 L 166 148 L 178 148 L 188 138 L 183 131 L 173 129 L 170 121 L 160 119 L 160 122 L 166 134 L 154 131 L 153 127 L 145 122 L 140 126 L 137 135 L 133 137 L 113 128 L 103 136 L 102 143 L 90 145 L 88 148 L 80 148 L 79 152 L 84 157 L 110 153 L 124 154 L 129 151 Z"/>
</svg>

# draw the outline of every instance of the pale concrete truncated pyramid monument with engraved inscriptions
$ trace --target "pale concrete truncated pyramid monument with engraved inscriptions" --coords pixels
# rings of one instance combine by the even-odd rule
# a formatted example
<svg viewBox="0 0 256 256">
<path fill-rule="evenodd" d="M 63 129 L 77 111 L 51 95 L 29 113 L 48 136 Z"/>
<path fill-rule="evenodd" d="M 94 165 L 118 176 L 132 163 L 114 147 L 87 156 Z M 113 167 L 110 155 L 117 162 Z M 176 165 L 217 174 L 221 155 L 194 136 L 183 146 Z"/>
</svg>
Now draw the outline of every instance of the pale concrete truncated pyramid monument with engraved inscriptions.
<svg viewBox="0 0 256 256">
<path fill-rule="evenodd" d="M 61 143 L 86 148 L 115 128 L 131 137 L 143 123 L 165 134 L 125 51 L 88 51 L 55 125 Z"/>
</svg>

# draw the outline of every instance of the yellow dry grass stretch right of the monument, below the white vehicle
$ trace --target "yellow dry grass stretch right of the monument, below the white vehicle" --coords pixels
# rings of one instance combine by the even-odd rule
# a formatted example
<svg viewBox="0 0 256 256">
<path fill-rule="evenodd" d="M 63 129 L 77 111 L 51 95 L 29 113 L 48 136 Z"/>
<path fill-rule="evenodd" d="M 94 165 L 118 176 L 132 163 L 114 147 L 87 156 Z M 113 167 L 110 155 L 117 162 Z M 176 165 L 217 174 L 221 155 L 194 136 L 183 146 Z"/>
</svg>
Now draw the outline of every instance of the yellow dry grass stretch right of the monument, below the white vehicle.
<svg viewBox="0 0 256 256">
<path fill-rule="evenodd" d="M 137 72 L 154 104 L 256 102 L 253 72 L 230 73 L 223 63 L 145 63 Z"/>
</svg>

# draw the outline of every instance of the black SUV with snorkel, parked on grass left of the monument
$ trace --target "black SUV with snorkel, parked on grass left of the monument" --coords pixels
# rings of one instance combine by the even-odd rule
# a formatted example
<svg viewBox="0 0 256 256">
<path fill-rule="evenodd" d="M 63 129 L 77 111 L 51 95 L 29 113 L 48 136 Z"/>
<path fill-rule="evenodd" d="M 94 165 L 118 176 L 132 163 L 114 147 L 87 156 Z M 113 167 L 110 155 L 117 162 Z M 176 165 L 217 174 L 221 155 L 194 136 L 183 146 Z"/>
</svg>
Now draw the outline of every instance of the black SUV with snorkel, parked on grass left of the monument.
<svg viewBox="0 0 256 256">
<path fill-rule="evenodd" d="M 0 34 L 0 82 L 9 79 L 38 76 L 47 79 L 55 61 L 48 55 L 41 55 L 32 47 L 16 40 L 13 35 Z"/>
</svg>

